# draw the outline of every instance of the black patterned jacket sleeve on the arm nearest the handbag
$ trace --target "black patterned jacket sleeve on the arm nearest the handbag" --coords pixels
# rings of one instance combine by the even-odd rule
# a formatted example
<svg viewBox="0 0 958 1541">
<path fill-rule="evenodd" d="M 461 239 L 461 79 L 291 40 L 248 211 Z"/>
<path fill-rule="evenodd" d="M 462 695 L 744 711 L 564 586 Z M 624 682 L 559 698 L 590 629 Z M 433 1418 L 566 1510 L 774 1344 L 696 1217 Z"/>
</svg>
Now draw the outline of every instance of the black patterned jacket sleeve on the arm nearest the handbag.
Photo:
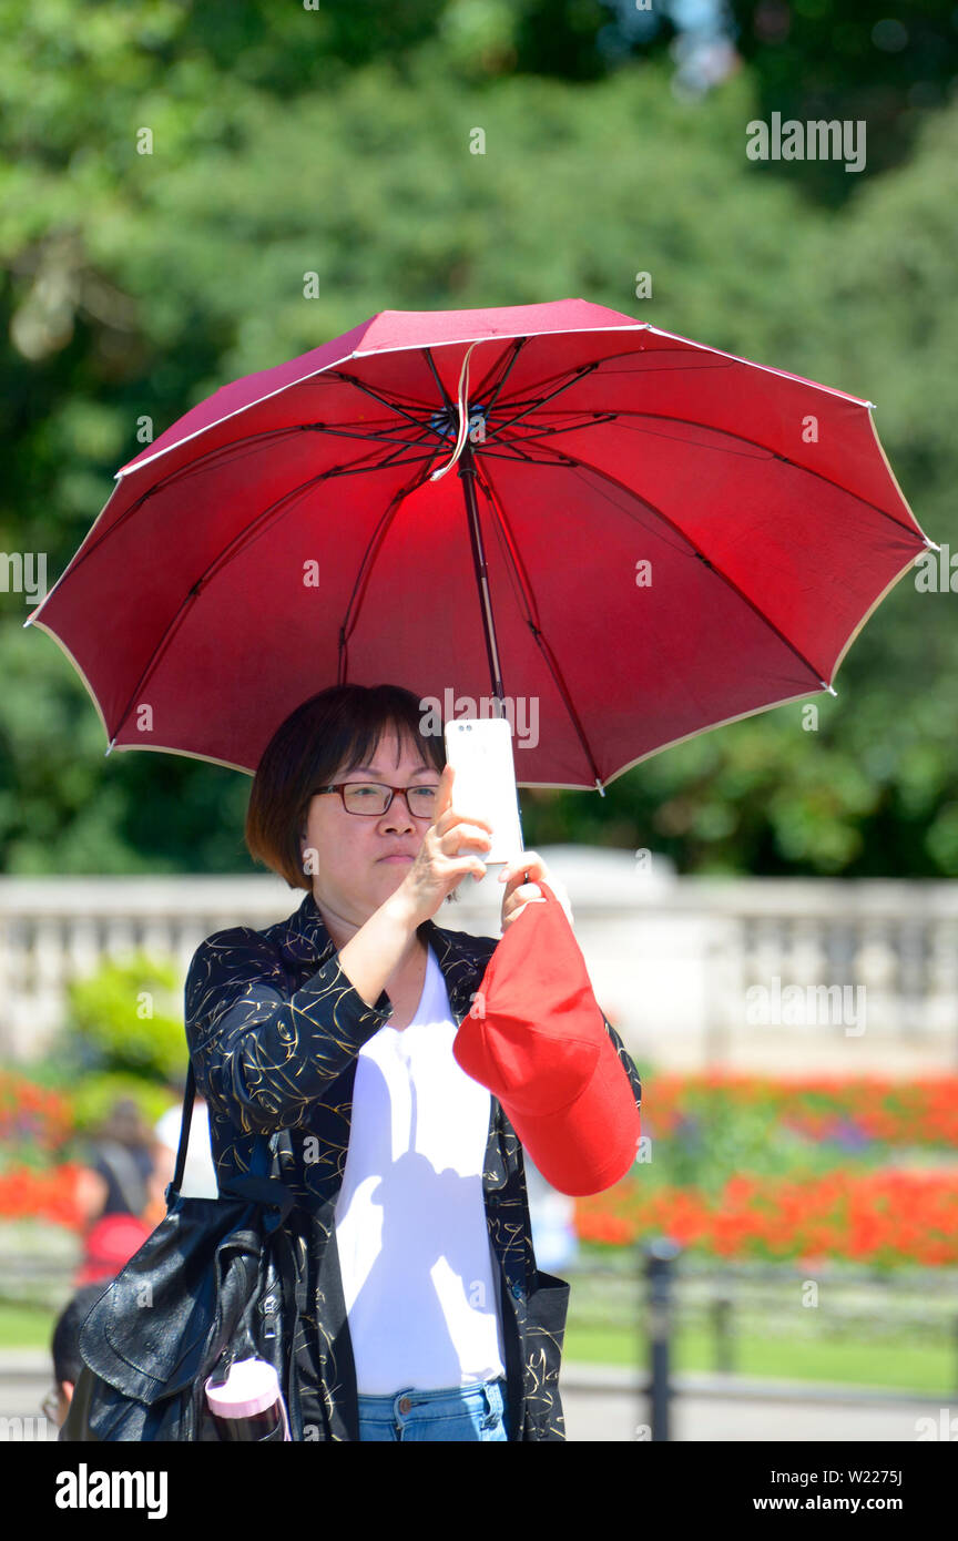
<svg viewBox="0 0 958 1541">
<path fill-rule="evenodd" d="M 265 937 L 217 931 L 197 948 L 185 986 L 197 1089 L 243 1133 L 308 1120 L 362 1045 L 393 1014 L 385 989 L 367 1005 L 333 954 L 294 994 Z"/>
</svg>

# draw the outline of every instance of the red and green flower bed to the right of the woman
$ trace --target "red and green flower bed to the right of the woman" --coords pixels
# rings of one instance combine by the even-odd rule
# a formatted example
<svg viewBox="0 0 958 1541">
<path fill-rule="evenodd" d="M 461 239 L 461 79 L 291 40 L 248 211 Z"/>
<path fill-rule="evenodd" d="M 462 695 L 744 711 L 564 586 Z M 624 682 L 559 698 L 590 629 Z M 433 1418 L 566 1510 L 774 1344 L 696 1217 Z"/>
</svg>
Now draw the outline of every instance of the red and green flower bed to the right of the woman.
<svg viewBox="0 0 958 1541">
<path fill-rule="evenodd" d="M 958 1262 L 958 1076 L 652 1071 L 642 1134 L 645 1163 L 576 1200 L 581 1241 L 665 1233 L 713 1257 Z M 915 1156 L 918 1170 L 890 1165 Z"/>
</svg>

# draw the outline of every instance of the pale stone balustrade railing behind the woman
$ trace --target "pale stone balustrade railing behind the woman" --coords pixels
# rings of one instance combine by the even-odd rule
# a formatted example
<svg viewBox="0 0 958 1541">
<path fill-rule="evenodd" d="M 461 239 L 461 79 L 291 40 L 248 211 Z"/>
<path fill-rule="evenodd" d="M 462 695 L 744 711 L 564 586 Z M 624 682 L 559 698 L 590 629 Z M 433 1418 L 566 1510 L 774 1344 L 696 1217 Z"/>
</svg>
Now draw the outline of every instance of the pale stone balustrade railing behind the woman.
<svg viewBox="0 0 958 1541">
<path fill-rule="evenodd" d="M 676 878 L 641 852 L 541 854 L 636 1057 L 676 1069 L 958 1068 L 955 885 Z M 436 923 L 497 935 L 501 895 L 493 875 L 467 880 Z M 268 926 L 302 897 L 271 875 L 0 878 L 0 1056 L 42 1053 L 66 982 L 103 955 L 142 946 L 185 977 L 203 937 Z"/>
</svg>

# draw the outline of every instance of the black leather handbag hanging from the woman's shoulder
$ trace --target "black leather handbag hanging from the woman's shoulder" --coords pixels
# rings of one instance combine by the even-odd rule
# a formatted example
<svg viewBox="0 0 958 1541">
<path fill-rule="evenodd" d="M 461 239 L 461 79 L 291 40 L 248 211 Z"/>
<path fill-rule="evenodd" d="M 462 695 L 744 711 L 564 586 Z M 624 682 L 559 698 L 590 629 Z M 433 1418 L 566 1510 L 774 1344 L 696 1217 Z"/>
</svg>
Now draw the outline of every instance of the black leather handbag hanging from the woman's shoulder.
<svg viewBox="0 0 958 1541">
<path fill-rule="evenodd" d="M 60 1439 L 217 1439 L 205 1381 L 251 1356 L 274 1365 L 302 1438 L 290 1384 L 302 1281 L 283 1224 L 294 1197 L 276 1176 L 279 1136 L 257 1136 L 250 1173 L 222 1183 L 220 1197 L 183 1197 L 194 1085 L 189 1065 L 166 1214 L 83 1321 L 83 1368 Z"/>
</svg>

